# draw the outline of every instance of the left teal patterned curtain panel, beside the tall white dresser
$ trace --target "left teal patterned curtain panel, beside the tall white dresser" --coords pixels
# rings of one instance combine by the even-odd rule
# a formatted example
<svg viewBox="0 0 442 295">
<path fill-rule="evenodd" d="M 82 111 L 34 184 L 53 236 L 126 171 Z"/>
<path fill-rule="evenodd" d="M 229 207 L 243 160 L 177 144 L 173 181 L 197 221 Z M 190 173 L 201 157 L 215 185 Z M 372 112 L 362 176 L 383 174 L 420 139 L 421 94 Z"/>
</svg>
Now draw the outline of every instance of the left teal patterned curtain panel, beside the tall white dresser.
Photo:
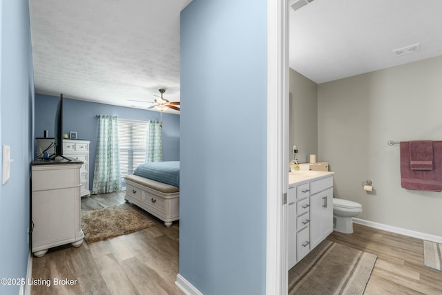
<svg viewBox="0 0 442 295">
<path fill-rule="evenodd" d="M 118 118 L 98 115 L 97 151 L 92 193 L 122 190 L 119 172 Z"/>
</svg>

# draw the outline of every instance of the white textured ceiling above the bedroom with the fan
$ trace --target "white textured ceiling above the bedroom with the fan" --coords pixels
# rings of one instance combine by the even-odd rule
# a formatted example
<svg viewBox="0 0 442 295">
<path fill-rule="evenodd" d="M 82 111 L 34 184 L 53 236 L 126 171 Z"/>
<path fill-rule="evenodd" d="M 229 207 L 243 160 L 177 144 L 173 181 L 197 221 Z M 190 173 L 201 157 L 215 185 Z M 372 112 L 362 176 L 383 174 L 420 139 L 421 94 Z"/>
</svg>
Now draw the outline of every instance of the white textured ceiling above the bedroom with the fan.
<svg viewBox="0 0 442 295">
<path fill-rule="evenodd" d="M 30 0 L 37 93 L 147 108 L 180 100 L 180 11 L 191 0 Z M 169 110 L 170 113 L 177 111 Z"/>
</svg>

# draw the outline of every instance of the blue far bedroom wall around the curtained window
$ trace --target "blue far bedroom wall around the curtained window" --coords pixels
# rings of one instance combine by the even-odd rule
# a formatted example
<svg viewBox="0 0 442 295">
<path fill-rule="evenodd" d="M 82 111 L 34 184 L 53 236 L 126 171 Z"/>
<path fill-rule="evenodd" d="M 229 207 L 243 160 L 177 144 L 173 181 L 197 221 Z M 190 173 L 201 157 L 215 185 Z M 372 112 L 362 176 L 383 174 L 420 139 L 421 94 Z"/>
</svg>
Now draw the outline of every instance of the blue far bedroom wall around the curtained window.
<svg viewBox="0 0 442 295">
<path fill-rule="evenodd" d="M 54 137 L 54 121 L 59 97 L 35 95 L 35 137 L 44 130 Z M 97 104 L 63 97 L 63 133 L 77 131 L 77 138 L 90 140 L 89 187 L 92 189 L 97 148 L 97 115 L 113 115 L 122 119 L 157 120 L 163 122 L 163 160 L 180 160 L 180 115 L 145 111 L 137 108 Z M 35 154 L 34 154 L 35 155 Z"/>
</svg>

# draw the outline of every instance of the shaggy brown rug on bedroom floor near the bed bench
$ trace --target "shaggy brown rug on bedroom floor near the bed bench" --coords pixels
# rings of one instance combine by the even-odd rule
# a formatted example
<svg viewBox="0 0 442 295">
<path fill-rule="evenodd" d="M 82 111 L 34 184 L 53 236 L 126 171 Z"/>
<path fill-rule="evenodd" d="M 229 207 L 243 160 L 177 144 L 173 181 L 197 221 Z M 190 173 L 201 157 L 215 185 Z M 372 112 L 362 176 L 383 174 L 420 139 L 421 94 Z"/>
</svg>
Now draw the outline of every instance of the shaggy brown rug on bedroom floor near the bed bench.
<svg viewBox="0 0 442 295">
<path fill-rule="evenodd" d="M 86 242 L 122 236 L 154 225 L 142 212 L 126 203 L 81 211 L 81 229 Z"/>
</svg>

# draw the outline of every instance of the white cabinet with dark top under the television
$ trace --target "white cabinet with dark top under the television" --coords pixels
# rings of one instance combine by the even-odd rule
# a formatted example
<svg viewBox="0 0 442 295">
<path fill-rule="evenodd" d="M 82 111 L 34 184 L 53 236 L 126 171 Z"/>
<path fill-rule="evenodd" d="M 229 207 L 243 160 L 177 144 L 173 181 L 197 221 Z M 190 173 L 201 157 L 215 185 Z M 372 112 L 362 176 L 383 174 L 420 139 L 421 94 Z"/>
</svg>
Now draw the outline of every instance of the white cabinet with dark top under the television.
<svg viewBox="0 0 442 295">
<path fill-rule="evenodd" d="M 49 248 L 79 247 L 81 230 L 80 168 L 78 160 L 32 162 L 32 253 L 41 257 Z"/>
</svg>

